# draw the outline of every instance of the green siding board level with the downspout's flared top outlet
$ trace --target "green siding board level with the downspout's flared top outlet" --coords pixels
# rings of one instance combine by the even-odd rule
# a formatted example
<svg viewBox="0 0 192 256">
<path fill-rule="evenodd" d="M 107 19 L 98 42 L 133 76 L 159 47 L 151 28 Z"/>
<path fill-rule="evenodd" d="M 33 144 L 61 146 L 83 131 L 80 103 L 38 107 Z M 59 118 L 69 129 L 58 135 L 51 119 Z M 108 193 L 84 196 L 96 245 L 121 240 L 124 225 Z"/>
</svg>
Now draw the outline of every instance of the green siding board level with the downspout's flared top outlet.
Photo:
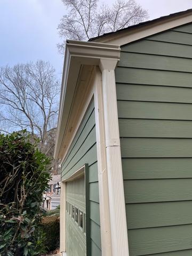
<svg viewBox="0 0 192 256">
<path fill-rule="evenodd" d="M 192 37 L 191 37 L 192 39 Z M 191 72 L 191 59 L 122 52 L 118 67 Z"/>
</svg>

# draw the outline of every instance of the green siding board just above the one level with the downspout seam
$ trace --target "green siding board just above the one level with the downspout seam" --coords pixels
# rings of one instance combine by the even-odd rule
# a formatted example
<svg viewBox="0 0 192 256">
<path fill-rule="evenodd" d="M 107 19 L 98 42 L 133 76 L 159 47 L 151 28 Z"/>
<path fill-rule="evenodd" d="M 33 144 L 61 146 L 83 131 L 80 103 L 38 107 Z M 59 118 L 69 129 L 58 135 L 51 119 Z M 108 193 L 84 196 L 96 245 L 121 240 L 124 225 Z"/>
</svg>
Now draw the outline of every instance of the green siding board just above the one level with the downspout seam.
<svg viewBox="0 0 192 256">
<path fill-rule="evenodd" d="M 192 121 L 119 119 L 120 137 L 192 138 Z"/>
</svg>

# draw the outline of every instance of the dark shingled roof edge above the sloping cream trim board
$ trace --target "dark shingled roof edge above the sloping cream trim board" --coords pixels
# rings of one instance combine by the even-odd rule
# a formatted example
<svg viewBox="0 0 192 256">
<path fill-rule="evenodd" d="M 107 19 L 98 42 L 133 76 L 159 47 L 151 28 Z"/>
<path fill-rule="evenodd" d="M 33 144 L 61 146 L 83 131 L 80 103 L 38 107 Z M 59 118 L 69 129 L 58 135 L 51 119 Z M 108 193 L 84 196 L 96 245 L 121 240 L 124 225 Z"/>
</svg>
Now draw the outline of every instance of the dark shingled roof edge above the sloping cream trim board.
<svg viewBox="0 0 192 256">
<path fill-rule="evenodd" d="M 149 23 L 151 24 L 151 23 L 155 23 L 155 22 L 158 22 L 158 21 L 163 21 L 163 20 L 166 20 L 167 18 L 172 18 L 172 17 L 178 16 L 178 15 L 182 15 L 182 14 L 190 13 L 190 12 L 192 12 L 192 9 L 188 9 L 186 11 L 181 11 L 181 12 L 171 13 L 169 15 L 162 16 L 162 17 L 159 17 L 159 18 L 154 19 L 154 20 L 147 20 L 147 21 L 144 21 L 144 22 L 140 22 L 138 24 L 135 24 L 135 25 L 132 25 L 132 26 L 129 26 L 129 27 L 126 27 L 126 28 L 119 29 L 115 32 L 109 32 L 109 33 L 103 34 L 101 36 L 90 38 L 89 42 L 95 41 L 95 40 L 100 39 L 102 37 L 106 37 L 108 35 L 118 34 L 119 32 L 124 31 L 124 30 L 129 30 L 129 29 L 132 29 L 132 28 L 142 27 L 142 26 L 148 25 Z"/>
</svg>

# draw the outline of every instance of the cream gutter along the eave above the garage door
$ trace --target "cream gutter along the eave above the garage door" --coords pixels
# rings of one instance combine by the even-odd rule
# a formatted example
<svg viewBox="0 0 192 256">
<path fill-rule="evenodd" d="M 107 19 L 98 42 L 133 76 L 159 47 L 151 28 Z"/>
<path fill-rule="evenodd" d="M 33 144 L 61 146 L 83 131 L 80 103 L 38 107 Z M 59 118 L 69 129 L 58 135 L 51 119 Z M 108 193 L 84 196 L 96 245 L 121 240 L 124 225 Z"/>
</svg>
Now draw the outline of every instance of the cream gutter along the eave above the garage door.
<svg viewBox="0 0 192 256">
<path fill-rule="evenodd" d="M 119 58 L 119 45 L 71 40 L 66 42 L 54 158 L 62 157 L 60 150 L 63 138 L 65 137 L 68 118 L 81 66 L 98 66 L 100 59 L 119 60 Z"/>
</svg>

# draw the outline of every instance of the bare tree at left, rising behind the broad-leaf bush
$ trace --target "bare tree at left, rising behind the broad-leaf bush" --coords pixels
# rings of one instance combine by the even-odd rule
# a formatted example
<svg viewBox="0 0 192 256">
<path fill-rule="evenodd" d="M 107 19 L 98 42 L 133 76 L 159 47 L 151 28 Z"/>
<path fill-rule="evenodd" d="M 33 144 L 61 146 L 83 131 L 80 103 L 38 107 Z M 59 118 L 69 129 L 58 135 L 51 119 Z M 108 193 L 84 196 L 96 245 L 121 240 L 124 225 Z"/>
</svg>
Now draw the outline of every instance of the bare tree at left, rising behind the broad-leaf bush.
<svg viewBox="0 0 192 256">
<path fill-rule="evenodd" d="M 26 129 L 39 148 L 52 156 L 57 127 L 59 83 L 49 62 L 0 69 L 0 131 Z"/>
</svg>

